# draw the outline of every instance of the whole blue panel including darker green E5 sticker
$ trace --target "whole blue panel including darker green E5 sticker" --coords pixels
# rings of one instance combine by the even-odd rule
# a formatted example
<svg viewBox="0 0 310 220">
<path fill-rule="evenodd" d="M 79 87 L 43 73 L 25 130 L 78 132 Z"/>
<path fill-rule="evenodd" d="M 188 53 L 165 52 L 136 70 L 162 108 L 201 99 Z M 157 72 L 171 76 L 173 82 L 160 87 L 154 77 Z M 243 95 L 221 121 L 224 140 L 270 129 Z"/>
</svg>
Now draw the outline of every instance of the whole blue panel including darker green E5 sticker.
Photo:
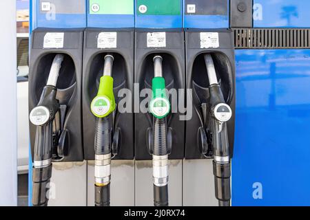
<svg viewBox="0 0 310 220">
<path fill-rule="evenodd" d="M 182 28 L 182 0 L 135 0 L 136 28 Z"/>
</svg>

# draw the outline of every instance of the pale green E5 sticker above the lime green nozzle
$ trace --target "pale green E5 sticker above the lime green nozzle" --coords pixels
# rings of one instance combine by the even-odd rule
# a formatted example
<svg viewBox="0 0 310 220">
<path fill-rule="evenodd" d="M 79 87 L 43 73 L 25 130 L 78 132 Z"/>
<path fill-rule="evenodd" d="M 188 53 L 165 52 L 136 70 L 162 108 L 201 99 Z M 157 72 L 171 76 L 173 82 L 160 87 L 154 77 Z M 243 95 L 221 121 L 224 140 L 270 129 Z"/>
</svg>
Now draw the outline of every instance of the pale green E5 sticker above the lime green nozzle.
<svg viewBox="0 0 310 220">
<path fill-rule="evenodd" d="M 134 0 L 90 0 L 90 14 L 134 14 Z"/>
</svg>

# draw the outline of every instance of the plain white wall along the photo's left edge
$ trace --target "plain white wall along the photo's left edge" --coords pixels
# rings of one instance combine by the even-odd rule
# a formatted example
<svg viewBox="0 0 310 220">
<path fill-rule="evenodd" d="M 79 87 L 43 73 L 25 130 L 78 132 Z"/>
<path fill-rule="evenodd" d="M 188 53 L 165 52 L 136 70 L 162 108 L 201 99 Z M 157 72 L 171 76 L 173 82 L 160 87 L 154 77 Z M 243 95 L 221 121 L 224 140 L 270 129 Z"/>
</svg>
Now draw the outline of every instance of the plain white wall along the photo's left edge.
<svg viewBox="0 0 310 220">
<path fill-rule="evenodd" d="M 0 206 L 17 206 L 16 2 L 0 1 Z M 25 134 L 27 135 L 27 134 Z"/>
</svg>

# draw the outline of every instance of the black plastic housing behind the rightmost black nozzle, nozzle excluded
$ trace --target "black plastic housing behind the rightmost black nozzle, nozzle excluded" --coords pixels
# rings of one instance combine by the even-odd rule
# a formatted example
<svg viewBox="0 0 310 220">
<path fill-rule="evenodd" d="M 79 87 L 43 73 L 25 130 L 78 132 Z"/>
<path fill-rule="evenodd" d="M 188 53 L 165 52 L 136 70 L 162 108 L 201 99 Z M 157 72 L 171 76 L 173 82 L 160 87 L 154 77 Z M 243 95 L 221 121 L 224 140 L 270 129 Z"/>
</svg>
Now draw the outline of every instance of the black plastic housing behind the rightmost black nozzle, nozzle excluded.
<svg viewBox="0 0 310 220">
<path fill-rule="evenodd" d="M 218 48 L 201 48 L 200 32 L 218 32 Z M 231 30 L 185 30 L 186 45 L 186 79 L 187 89 L 192 89 L 192 100 L 187 98 L 187 105 L 192 104 L 192 118 L 186 121 L 186 144 L 185 159 L 203 159 L 199 145 L 201 138 L 198 133 L 203 126 L 203 111 L 201 104 L 207 103 L 209 99 L 209 79 L 205 65 L 204 54 L 211 53 L 218 75 L 220 88 L 223 91 L 225 101 L 231 107 L 233 115 L 227 122 L 229 136 L 229 152 L 231 157 L 234 150 L 234 125 L 235 125 L 235 56 L 234 56 L 234 35 Z"/>
</svg>

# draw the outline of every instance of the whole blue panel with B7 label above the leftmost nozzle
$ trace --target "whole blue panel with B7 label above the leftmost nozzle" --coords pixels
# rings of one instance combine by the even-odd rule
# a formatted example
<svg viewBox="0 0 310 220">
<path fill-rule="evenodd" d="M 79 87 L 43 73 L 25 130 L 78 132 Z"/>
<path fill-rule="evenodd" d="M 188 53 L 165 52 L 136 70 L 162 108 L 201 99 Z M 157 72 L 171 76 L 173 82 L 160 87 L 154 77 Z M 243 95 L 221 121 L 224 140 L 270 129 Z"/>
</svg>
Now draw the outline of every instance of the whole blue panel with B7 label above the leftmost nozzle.
<svg viewBox="0 0 310 220">
<path fill-rule="evenodd" d="M 33 28 L 85 28 L 85 0 L 32 0 Z"/>
</svg>

